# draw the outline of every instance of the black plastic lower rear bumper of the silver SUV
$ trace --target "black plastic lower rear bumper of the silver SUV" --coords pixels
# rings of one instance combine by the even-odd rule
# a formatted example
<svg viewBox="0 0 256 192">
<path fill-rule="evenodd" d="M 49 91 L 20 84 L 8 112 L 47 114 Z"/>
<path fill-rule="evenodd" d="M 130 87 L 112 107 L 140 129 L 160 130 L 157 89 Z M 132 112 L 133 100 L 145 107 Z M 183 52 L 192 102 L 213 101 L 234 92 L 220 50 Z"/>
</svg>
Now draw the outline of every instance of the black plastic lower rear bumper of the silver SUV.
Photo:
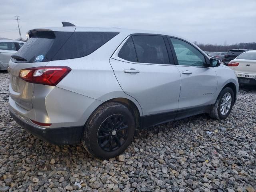
<svg viewBox="0 0 256 192">
<path fill-rule="evenodd" d="M 39 128 L 32 126 L 25 119 L 18 116 L 10 109 L 10 116 L 32 135 L 56 145 L 70 145 L 80 143 L 84 126 L 63 128 Z"/>
</svg>

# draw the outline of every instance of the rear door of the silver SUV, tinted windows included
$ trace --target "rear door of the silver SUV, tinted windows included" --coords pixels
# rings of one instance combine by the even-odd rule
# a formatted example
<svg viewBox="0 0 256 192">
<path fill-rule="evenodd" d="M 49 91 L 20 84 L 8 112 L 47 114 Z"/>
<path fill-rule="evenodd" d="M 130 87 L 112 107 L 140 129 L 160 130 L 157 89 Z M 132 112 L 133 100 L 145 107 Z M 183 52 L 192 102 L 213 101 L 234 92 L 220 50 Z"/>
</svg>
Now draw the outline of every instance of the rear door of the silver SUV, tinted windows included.
<svg viewBox="0 0 256 192">
<path fill-rule="evenodd" d="M 146 127 L 174 119 L 178 109 L 180 72 L 166 45 L 165 36 L 136 34 L 110 58 L 120 86 L 140 104 Z"/>
</svg>

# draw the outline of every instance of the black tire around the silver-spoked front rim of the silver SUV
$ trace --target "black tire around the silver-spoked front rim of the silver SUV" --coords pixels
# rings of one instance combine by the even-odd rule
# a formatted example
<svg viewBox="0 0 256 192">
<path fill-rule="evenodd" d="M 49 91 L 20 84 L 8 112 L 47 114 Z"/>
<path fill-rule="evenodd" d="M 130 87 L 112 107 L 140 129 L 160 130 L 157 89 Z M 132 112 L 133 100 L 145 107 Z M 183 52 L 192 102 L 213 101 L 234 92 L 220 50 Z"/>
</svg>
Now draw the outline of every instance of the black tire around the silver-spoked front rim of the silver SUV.
<svg viewBox="0 0 256 192">
<path fill-rule="evenodd" d="M 230 107 L 229 107 L 228 111 L 224 111 L 224 113 L 223 113 L 223 110 L 221 110 L 222 109 L 221 104 L 222 104 L 222 100 L 224 99 L 224 96 L 231 96 L 231 102 L 230 102 Z M 228 105 L 229 102 L 226 102 L 226 103 Z M 214 106 L 210 110 L 210 117 L 213 119 L 218 119 L 218 120 L 226 119 L 229 116 L 233 105 L 234 105 L 234 92 L 233 92 L 232 88 L 226 87 L 226 88 L 222 89 Z"/>
</svg>

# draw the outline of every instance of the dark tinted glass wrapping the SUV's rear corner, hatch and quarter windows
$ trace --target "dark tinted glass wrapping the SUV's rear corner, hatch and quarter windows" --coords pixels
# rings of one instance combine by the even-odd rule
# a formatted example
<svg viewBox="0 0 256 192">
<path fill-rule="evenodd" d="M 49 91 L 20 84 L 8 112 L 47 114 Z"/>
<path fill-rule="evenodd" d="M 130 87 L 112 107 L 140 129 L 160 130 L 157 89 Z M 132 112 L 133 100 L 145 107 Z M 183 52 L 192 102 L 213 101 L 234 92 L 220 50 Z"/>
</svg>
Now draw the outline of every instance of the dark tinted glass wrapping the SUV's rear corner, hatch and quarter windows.
<svg viewBox="0 0 256 192">
<path fill-rule="evenodd" d="M 29 40 L 13 56 L 13 62 L 47 62 L 84 57 L 118 32 L 55 32 L 31 30 Z"/>
</svg>

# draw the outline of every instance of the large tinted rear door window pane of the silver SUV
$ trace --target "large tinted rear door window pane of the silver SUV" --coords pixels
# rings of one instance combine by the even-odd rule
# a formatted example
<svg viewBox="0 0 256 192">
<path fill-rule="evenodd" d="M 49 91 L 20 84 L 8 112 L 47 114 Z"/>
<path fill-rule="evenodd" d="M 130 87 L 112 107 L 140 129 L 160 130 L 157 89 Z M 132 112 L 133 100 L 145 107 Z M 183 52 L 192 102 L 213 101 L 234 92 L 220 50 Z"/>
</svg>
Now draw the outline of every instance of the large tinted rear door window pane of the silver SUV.
<svg viewBox="0 0 256 192">
<path fill-rule="evenodd" d="M 134 35 L 132 38 L 138 62 L 170 64 L 164 38 L 162 36 Z"/>
</svg>

